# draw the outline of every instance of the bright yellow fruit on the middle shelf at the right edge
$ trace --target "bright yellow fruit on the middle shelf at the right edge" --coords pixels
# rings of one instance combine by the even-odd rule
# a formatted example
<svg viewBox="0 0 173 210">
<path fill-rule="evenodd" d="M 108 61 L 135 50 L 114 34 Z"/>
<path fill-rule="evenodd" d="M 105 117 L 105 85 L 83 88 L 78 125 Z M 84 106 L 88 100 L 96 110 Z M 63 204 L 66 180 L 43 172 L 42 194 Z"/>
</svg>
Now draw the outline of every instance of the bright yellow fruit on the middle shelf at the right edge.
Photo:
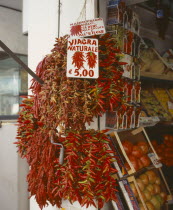
<svg viewBox="0 0 173 210">
<path fill-rule="evenodd" d="M 170 97 L 167 94 L 166 89 L 163 88 L 154 88 L 153 89 L 153 93 L 156 96 L 157 100 L 160 102 L 160 104 L 162 105 L 162 107 L 169 113 L 171 113 L 171 115 L 173 115 L 173 109 L 170 109 L 168 107 L 168 102 L 170 101 Z"/>
</svg>

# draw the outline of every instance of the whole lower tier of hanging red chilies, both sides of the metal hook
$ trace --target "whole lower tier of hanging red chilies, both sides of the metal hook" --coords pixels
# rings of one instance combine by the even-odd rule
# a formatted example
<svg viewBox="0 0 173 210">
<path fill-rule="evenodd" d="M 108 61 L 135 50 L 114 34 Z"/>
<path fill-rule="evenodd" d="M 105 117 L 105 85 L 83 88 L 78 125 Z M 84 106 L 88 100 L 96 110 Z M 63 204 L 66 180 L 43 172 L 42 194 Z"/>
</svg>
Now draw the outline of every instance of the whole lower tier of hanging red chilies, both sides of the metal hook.
<svg viewBox="0 0 173 210">
<path fill-rule="evenodd" d="M 28 101 L 33 103 L 33 98 L 24 100 L 18 120 L 17 144 L 20 155 L 30 165 L 28 189 L 31 196 L 35 195 L 40 208 L 47 201 L 60 208 L 63 199 L 99 208 L 104 202 L 116 201 L 113 176 L 117 171 L 111 167 L 115 157 L 110 155 L 113 152 L 108 147 L 106 131 L 70 131 L 62 137 L 42 124 L 38 126 L 31 104 L 27 107 Z M 51 144 L 49 134 L 65 147 L 63 165 L 59 164 L 59 149 Z"/>
</svg>

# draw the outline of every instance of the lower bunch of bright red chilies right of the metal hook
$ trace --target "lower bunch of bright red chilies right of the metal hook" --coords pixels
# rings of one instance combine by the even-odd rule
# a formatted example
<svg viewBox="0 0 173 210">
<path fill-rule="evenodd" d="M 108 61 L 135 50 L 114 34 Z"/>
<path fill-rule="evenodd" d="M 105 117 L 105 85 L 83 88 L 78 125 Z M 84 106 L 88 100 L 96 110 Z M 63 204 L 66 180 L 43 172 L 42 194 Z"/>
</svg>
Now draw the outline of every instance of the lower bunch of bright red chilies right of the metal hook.
<svg viewBox="0 0 173 210">
<path fill-rule="evenodd" d="M 69 132 L 63 141 L 65 164 L 60 166 L 57 163 L 55 195 L 72 203 L 79 201 L 87 207 L 97 206 L 98 201 L 99 208 L 105 201 L 116 200 L 116 181 L 113 178 L 116 170 L 110 167 L 112 157 L 109 153 L 112 151 L 108 150 L 108 143 L 102 132 Z"/>
</svg>

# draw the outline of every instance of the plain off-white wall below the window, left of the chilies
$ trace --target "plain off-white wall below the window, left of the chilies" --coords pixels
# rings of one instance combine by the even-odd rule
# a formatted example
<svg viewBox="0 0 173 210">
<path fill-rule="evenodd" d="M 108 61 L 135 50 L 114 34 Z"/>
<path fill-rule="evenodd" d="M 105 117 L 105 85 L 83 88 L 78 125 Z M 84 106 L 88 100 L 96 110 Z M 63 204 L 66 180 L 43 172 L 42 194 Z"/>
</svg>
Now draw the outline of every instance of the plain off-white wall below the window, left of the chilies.
<svg viewBox="0 0 173 210">
<path fill-rule="evenodd" d="M 27 164 L 17 154 L 14 124 L 0 128 L 0 209 L 28 210 Z M 8 135 L 7 135 L 8 134 Z M 18 169 L 21 170 L 18 170 Z M 21 178 L 22 177 L 22 178 Z"/>
</svg>

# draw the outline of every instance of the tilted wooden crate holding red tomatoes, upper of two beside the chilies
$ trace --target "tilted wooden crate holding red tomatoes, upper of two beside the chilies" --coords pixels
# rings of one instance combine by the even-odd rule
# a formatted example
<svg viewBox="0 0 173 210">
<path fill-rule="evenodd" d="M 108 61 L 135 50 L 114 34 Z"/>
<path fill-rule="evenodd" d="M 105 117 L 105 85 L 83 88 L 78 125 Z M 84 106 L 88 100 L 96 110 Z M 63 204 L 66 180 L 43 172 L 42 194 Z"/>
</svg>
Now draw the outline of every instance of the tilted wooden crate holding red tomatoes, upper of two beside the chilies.
<svg viewBox="0 0 173 210">
<path fill-rule="evenodd" d="M 159 160 L 145 129 L 142 127 L 129 131 L 112 132 L 110 136 L 123 157 L 129 175 L 142 168 L 153 166 L 154 158 L 154 161 Z M 151 159 L 150 156 L 152 156 Z M 156 167 L 160 166 L 160 164 L 156 165 Z"/>
</svg>

